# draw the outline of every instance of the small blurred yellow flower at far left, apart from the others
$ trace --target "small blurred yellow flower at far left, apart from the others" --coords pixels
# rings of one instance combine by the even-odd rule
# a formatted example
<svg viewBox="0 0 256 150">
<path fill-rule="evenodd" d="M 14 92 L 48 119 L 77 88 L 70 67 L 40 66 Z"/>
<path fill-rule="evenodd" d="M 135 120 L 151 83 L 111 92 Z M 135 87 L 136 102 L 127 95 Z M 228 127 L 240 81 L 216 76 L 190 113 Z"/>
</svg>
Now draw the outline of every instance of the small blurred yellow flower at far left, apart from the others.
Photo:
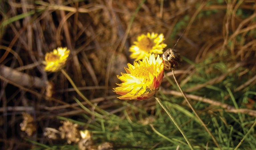
<svg viewBox="0 0 256 150">
<path fill-rule="evenodd" d="M 58 47 L 57 50 L 54 49 L 52 52 L 46 53 L 44 62 L 46 66 L 44 70 L 56 72 L 61 69 L 65 64 L 69 53 L 70 51 L 66 47 Z"/>
</svg>

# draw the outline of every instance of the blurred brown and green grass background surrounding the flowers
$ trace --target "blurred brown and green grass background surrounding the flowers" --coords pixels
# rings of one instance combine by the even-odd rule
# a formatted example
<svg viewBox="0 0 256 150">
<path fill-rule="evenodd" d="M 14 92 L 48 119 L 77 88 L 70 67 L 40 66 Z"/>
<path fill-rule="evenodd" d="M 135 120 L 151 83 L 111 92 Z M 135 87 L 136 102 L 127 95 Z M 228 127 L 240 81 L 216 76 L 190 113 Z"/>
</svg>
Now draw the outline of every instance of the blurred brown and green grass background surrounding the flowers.
<svg viewBox="0 0 256 150">
<path fill-rule="evenodd" d="M 163 33 L 166 49 L 183 55 L 176 77 L 186 93 L 200 96 L 188 98 L 222 149 L 243 138 L 238 149 L 256 149 L 255 1 L 143 2 L 0 0 L 2 149 L 81 149 L 60 135 L 45 136 L 47 128 L 58 133 L 61 120 L 93 134 L 84 149 L 107 149 L 99 147 L 106 142 L 112 149 L 189 149 L 154 98 L 119 100 L 112 92 L 116 75 L 133 63 L 129 47 L 147 32 Z M 45 54 L 57 47 L 70 49 L 65 70 L 82 93 L 112 115 L 88 114 L 81 106 L 94 109 L 61 72 L 44 71 Z M 166 72 L 161 99 L 196 149 L 218 149 L 173 82 Z M 33 120 L 25 123 L 22 112 Z"/>
</svg>

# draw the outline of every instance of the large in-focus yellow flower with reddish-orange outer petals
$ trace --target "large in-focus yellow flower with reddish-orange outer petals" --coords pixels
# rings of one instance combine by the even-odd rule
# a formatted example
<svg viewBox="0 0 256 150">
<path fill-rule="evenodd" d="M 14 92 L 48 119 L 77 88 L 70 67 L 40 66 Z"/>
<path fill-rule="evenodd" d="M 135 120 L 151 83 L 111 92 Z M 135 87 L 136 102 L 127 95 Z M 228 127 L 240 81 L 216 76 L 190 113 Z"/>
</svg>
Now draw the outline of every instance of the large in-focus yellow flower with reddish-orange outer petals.
<svg viewBox="0 0 256 150">
<path fill-rule="evenodd" d="M 145 56 L 143 60 L 128 63 L 128 68 L 124 68 L 126 73 L 121 72 L 117 78 L 123 83 L 117 84 L 119 87 L 113 88 L 119 99 L 148 99 L 159 90 L 164 77 L 164 62 L 159 55 Z"/>
</svg>

